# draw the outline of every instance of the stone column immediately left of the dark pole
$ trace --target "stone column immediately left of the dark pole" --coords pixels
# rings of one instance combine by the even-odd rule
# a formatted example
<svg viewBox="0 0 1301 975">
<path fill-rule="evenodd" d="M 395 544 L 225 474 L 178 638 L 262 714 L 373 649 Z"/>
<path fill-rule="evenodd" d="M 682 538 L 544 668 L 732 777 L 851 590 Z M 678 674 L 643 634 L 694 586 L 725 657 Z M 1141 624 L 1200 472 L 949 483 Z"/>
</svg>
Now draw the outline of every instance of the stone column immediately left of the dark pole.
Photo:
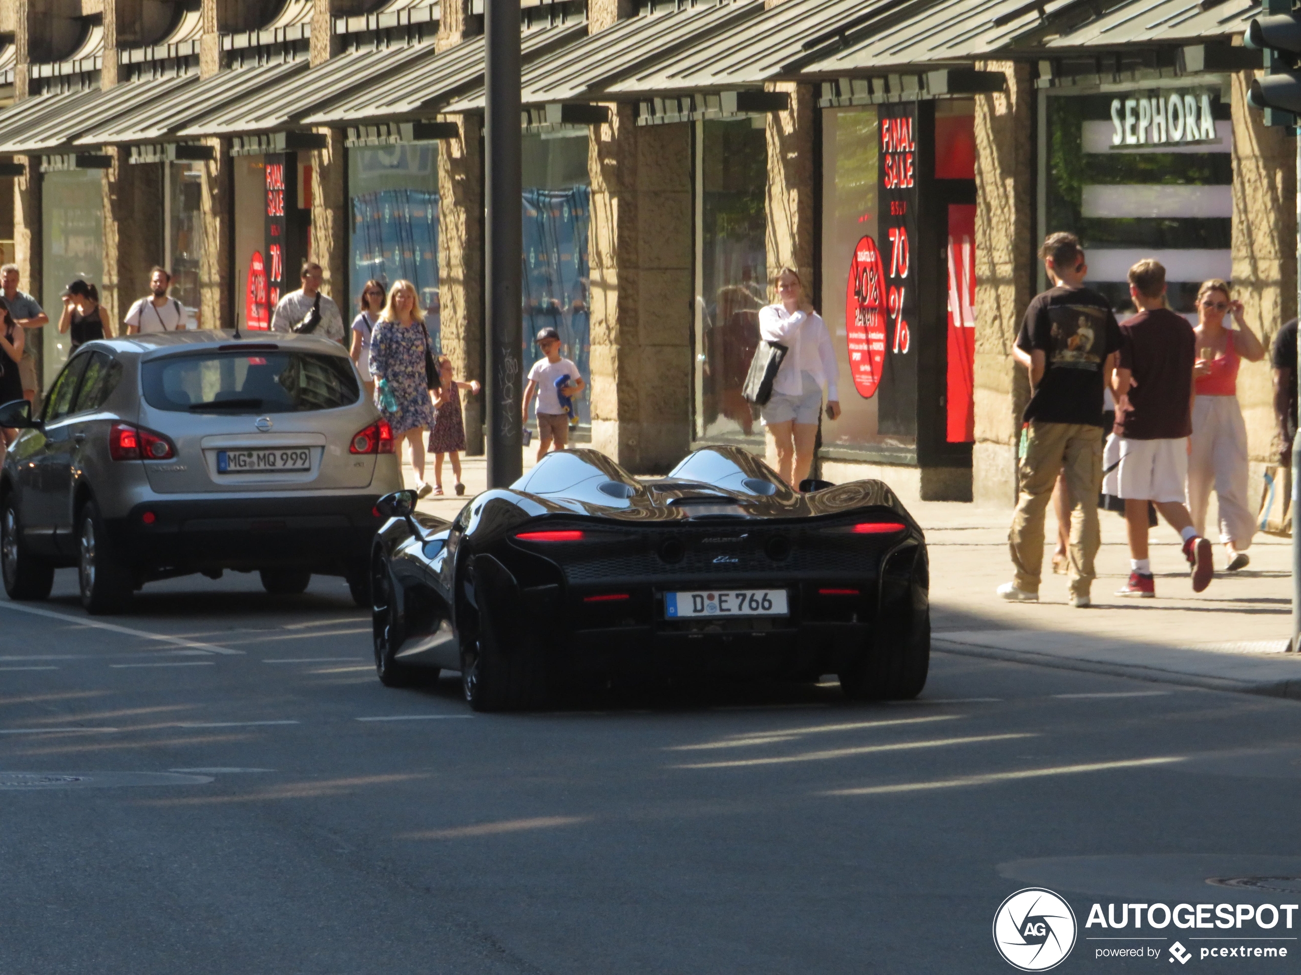
<svg viewBox="0 0 1301 975">
<path fill-rule="evenodd" d="M 483 376 L 484 166 L 481 116 L 449 116 L 459 135 L 438 142 L 438 300 L 442 352 L 462 381 Z M 462 396 L 466 454 L 484 452 L 483 395 Z"/>
</svg>

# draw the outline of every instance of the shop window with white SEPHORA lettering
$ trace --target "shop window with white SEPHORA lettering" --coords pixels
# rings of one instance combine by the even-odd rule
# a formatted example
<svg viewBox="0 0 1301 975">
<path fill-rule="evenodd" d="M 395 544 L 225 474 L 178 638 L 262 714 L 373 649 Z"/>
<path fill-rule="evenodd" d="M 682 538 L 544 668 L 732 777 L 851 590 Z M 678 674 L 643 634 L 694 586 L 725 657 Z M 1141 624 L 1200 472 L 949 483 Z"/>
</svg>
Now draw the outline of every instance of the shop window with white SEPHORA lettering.
<svg viewBox="0 0 1301 975">
<path fill-rule="evenodd" d="M 1198 283 L 1232 270 L 1233 126 L 1220 79 L 1039 98 L 1042 233 L 1080 235 L 1089 283 L 1119 317 L 1133 313 L 1129 266 L 1155 257 L 1171 306 L 1196 320 Z"/>
</svg>

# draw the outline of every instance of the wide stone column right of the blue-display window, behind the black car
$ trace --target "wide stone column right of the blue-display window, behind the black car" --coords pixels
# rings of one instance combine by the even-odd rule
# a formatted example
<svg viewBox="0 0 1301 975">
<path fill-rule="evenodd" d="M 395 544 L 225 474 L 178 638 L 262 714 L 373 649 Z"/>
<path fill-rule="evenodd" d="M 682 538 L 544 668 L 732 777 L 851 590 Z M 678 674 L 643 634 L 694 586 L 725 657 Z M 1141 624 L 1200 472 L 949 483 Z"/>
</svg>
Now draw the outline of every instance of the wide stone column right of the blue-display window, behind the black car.
<svg viewBox="0 0 1301 975">
<path fill-rule="evenodd" d="M 637 473 L 691 442 L 691 130 L 592 126 L 592 446 Z"/>
</svg>

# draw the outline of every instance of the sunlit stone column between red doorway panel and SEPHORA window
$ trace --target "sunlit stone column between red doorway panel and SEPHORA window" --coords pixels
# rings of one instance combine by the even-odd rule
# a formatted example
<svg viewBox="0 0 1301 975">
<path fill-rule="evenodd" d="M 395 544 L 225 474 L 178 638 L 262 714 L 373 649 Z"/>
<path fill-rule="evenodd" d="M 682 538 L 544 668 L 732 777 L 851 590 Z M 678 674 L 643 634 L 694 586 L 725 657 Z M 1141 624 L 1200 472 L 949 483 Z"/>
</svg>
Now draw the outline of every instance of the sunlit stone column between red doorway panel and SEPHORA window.
<svg viewBox="0 0 1301 975">
<path fill-rule="evenodd" d="M 976 96 L 976 445 L 972 491 L 980 504 L 1016 500 L 1016 445 L 1029 399 L 1012 359 L 1032 296 L 1034 244 L 1030 120 L 1034 87 L 1025 62 L 977 62 L 1003 72 L 1007 90 Z"/>
</svg>

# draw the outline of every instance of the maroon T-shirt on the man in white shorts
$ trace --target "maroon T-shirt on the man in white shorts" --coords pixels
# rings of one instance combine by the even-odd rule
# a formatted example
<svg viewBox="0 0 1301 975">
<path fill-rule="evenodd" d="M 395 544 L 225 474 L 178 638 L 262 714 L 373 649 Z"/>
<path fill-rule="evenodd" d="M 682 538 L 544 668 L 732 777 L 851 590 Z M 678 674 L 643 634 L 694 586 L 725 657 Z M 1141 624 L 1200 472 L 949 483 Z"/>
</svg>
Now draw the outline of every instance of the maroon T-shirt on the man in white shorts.
<svg viewBox="0 0 1301 975">
<path fill-rule="evenodd" d="M 1129 369 L 1133 385 L 1116 403 L 1116 436 L 1132 441 L 1190 436 L 1197 335 L 1188 318 L 1157 308 L 1125 321 L 1120 334 L 1116 365 Z"/>
</svg>

